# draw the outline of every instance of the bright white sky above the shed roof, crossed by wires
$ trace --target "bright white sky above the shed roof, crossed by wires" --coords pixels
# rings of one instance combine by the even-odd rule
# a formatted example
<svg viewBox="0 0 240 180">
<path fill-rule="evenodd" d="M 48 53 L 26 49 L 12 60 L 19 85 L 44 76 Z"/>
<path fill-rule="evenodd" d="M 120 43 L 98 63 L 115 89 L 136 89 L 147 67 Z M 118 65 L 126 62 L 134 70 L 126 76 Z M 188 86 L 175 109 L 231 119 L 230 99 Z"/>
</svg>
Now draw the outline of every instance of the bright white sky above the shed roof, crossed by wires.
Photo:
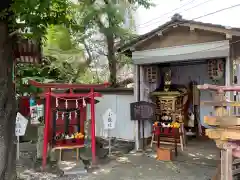
<svg viewBox="0 0 240 180">
<path fill-rule="evenodd" d="M 184 19 L 215 12 L 217 10 L 240 4 L 240 0 L 152 0 L 155 7 L 139 8 L 136 13 L 136 29 L 138 34 L 144 34 L 165 22 L 171 20 L 175 13 Z M 175 10 L 177 9 L 177 10 Z M 230 27 L 240 27 L 240 6 L 221 11 L 196 21 L 221 24 Z"/>
</svg>

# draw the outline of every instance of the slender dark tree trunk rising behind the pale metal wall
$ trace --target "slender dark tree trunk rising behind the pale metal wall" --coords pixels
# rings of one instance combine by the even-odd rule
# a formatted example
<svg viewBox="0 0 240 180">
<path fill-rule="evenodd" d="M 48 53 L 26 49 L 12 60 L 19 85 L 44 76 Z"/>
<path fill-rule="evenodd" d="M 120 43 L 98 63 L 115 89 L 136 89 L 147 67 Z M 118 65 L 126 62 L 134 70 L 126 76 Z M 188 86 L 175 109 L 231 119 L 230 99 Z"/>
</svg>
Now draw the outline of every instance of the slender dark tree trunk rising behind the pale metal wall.
<svg viewBox="0 0 240 180">
<path fill-rule="evenodd" d="M 114 52 L 114 37 L 113 34 L 106 36 L 108 48 L 108 68 L 110 72 L 109 81 L 112 87 L 117 86 L 117 59 Z"/>
</svg>

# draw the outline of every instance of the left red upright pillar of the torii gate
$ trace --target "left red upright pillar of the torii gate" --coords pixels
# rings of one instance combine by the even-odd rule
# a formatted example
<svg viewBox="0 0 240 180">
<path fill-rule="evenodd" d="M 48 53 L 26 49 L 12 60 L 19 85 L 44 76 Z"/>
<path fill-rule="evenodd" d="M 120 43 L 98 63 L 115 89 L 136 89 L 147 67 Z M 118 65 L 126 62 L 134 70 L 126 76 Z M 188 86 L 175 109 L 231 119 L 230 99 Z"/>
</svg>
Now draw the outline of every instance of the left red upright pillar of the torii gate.
<svg viewBox="0 0 240 180">
<path fill-rule="evenodd" d="M 45 94 L 46 103 L 45 103 L 45 127 L 44 127 L 44 139 L 43 139 L 43 161 L 42 168 L 44 169 L 47 164 L 47 155 L 48 155 L 48 131 L 49 131 L 49 119 L 51 113 L 51 94 L 50 90 Z"/>
</svg>

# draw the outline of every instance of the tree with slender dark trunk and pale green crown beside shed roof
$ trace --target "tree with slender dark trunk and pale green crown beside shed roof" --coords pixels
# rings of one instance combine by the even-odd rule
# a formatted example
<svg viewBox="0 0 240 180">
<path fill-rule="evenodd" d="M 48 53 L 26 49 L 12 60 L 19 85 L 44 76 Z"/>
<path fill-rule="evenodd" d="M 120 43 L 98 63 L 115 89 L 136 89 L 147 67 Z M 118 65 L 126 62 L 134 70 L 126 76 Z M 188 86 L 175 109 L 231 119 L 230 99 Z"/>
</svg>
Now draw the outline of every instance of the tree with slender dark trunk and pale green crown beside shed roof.
<svg viewBox="0 0 240 180">
<path fill-rule="evenodd" d="M 152 6 L 151 0 L 86 0 L 75 5 L 82 19 L 79 30 L 82 31 L 85 27 L 85 31 L 97 31 L 104 37 L 110 71 L 109 81 L 113 86 L 117 84 L 117 67 L 129 61 L 128 58 L 118 55 L 115 43 L 125 42 L 132 37 L 135 28 L 126 28 L 124 23 L 126 18 L 133 19 L 132 13 L 138 6 L 149 8 Z M 74 30 L 78 28 L 75 27 Z"/>
</svg>

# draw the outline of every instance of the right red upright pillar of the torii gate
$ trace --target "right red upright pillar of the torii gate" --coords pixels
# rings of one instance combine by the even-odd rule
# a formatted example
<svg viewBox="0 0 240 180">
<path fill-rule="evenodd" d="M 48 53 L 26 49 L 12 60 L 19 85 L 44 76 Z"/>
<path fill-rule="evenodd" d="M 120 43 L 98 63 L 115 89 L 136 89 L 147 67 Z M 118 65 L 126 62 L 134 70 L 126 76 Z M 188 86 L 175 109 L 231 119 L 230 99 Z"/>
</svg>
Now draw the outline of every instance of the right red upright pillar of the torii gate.
<svg viewBox="0 0 240 180">
<path fill-rule="evenodd" d="M 92 129 L 92 163 L 96 164 L 96 138 L 95 138 L 95 97 L 91 88 L 91 129 Z"/>
</svg>

